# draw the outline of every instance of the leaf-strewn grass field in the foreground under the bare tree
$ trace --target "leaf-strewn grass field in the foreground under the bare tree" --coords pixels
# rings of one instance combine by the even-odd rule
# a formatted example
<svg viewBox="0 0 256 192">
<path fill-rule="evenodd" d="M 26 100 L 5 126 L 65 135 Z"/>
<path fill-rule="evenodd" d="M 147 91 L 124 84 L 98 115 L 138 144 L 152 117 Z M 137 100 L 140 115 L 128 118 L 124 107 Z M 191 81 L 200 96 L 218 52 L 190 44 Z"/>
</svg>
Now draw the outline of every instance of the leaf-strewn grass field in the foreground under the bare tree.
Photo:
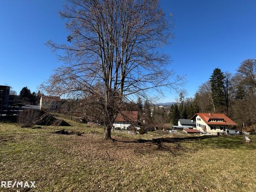
<svg viewBox="0 0 256 192">
<path fill-rule="evenodd" d="M 0 123 L 0 180 L 35 181 L 31 191 L 39 192 L 256 191 L 256 143 L 243 144 L 242 136 L 160 147 L 150 142 L 160 135 L 113 133 L 117 141 L 103 141 L 102 128 L 69 123 L 66 130 L 85 134 Z M 134 142 L 139 138 L 149 142 Z"/>
</svg>

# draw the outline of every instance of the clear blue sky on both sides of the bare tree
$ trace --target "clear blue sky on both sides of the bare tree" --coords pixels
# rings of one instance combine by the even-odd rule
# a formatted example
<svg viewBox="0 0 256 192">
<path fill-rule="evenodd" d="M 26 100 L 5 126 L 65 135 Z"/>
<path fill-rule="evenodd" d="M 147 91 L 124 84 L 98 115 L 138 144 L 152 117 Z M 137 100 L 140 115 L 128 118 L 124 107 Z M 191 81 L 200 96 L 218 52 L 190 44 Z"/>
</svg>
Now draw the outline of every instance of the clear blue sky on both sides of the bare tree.
<svg viewBox="0 0 256 192">
<path fill-rule="evenodd" d="M 256 0 L 161 0 L 175 24 L 171 68 L 186 75 L 184 86 L 193 96 L 213 69 L 234 73 L 245 59 L 256 58 Z M 0 0 L 0 85 L 31 91 L 60 66 L 45 45 L 66 42 L 64 20 L 58 10 L 64 0 Z M 174 101 L 165 91 L 163 102 Z"/>
</svg>

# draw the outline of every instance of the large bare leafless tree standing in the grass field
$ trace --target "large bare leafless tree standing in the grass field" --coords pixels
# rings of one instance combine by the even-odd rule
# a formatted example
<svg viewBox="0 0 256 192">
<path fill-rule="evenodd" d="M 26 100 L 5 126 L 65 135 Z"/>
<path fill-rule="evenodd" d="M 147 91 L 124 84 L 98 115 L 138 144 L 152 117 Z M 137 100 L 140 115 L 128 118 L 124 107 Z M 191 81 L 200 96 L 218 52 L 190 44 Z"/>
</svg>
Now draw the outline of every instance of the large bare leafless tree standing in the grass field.
<svg viewBox="0 0 256 192">
<path fill-rule="evenodd" d="M 68 42 L 48 45 L 64 50 L 63 55 L 56 53 L 65 64 L 43 88 L 51 94 L 94 96 L 103 116 L 104 139 L 111 138 L 125 99 L 147 97 L 150 89 L 160 92 L 181 82 L 180 77 L 171 78 L 169 58 L 157 49 L 172 37 L 159 0 L 68 0 L 60 14 L 70 32 Z"/>
</svg>

